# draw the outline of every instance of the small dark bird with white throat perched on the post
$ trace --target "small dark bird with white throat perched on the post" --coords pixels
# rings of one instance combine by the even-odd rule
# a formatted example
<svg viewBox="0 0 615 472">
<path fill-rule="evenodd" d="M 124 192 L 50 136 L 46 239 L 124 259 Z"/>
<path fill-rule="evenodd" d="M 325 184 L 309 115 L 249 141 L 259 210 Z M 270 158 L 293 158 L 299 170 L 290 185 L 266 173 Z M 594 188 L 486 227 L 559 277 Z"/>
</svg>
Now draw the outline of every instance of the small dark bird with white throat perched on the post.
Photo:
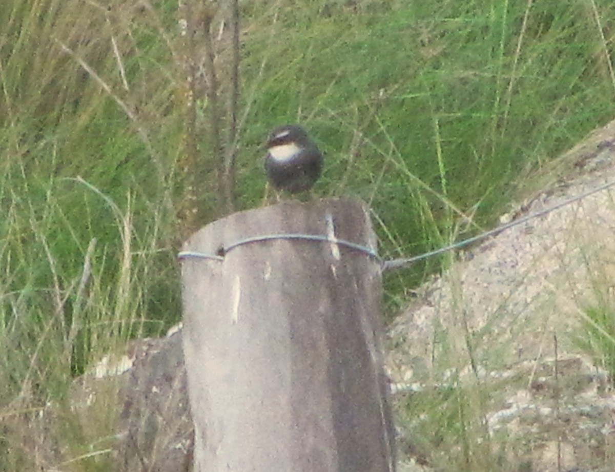
<svg viewBox="0 0 615 472">
<path fill-rule="evenodd" d="M 280 126 L 267 141 L 265 170 L 276 190 L 298 194 L 311 189 L 322 172 L 322 153 L 298 125 Z"/>
</svg>

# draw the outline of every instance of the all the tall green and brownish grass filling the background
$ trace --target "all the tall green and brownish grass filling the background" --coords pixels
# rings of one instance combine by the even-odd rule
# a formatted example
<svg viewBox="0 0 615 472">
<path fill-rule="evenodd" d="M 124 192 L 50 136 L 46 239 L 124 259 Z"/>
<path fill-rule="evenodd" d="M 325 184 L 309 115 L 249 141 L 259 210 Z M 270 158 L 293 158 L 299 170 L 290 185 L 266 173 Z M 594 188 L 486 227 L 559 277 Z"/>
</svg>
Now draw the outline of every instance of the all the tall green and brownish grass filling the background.
<svg viewBox="0 0 615 472">
<path fill-rule="evenodd" d="M 0 420 L 180 319 L 176 7 L 0 4 Z M 613 118 L 610 1 L 255 1 L 242 23 L 241 208 L 266 133 L 301 122 L 327 154 L 317 194 L 369 202 L 385 258 L 491 226 Z M 389 316 L 441 264 L 387 276 Z M 10 450 L 0 470 L 25 470 Z"/>
</svg>

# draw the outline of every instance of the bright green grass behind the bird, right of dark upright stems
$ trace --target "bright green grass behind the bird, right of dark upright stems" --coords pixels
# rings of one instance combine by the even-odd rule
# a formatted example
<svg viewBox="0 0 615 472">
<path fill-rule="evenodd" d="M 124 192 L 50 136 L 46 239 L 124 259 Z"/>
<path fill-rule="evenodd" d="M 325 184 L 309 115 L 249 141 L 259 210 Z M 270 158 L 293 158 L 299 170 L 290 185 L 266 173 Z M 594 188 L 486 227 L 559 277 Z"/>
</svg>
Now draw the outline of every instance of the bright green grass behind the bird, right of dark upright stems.
<svg viewBox="0 0 615 472">
<path fill-rule="evenodd" d="M 339 7 L 328 16 L 280 10 L 253 39 L 263 52 L 246 60 L 248 76 L 263 55 L 270 71 L 258 85 L 247 139 L 258 143 L 279 122 L 308 122 L 328 156 L 320 188 L 371 203 L 387 257 L 475 230 L 464 218 L 474 210 L 473 223 L 490 226 L 518 176 L 612 117 L 604 98 L 615 90 L 611 59 L 590 5 L 526 6 L 409 2 L 377 14 Z M 609 24 L 613 8 L 601 14 Z M 286 15 L 288 23 L 280 19 Z M 309 24 L 309 34 L 299 34 L 297 22 Z M 254 178 L 258 161 L 243 162 L 249 199 L 263 181 Z M 438 264 L 427 261 L 400 281 L 394 275 L 387 299 Z"/>
</svg>

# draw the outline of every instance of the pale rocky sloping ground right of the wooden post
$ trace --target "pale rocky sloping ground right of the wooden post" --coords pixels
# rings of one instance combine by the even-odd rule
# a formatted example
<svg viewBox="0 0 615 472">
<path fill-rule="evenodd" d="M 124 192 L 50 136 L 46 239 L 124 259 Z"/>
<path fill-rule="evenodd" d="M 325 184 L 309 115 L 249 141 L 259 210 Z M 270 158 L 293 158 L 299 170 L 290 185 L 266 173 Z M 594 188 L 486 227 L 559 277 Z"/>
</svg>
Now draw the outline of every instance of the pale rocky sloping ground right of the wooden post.
<svg viewBox="0 0 615 472">
<path fill-rule="evenodd" d="M 547 189 L 502 221 L 615 183 L 614 162 L 611 123 L 566 154 Z M 615 189 L 605 189 L 501 232 L 422 286 L 389 330 L 387 367 L 399 411 L 426 392 L 478 388 L 485 395 L 477 395 L 484 425 L 477 437 L 493 440 L 501 470 L 615 470 L 608 371 L 614 197 Z M 603 336 L 590 335 L 591 313 L 603 315 L 603 324 L 592 325 Z M 432 470 L 432 448 L 410 448 L 402 470 Z"/>
</svg>

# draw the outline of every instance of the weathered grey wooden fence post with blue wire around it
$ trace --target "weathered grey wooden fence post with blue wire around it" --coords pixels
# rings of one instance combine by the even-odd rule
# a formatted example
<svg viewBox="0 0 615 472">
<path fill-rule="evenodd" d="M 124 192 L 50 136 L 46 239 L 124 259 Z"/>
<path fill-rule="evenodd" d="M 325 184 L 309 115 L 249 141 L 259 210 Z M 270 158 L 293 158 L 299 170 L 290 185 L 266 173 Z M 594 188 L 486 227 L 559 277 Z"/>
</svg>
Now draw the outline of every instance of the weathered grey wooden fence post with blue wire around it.
<svg viewBox="0 0 615 472">
<path fill-rule="evenodd" d="M 194 470 L 395 470 L 368 208 L 329 199 L 232 214 L 181 254 Z M 223 254 L 223 260 L 198 254 Z"/>
</svg>

